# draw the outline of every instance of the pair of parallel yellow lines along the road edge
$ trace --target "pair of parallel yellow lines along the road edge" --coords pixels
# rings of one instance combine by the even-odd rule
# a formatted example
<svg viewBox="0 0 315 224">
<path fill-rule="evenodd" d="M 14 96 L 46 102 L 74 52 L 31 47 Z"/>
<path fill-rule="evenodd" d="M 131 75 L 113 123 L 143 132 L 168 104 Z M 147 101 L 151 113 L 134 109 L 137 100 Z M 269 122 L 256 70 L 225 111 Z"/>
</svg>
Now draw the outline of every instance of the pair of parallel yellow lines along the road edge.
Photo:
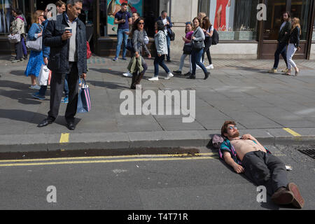
<svg viewBox="0 0 315 224">
<path fill-rule="evenodd" d="M 26 167 L 45 165 L 77 165 L 113 162 L 146 162 L 146 161 L 174 161 L 174 160 L 213 160 L 218 158 L 216 153 L 190 154 L 162 154 L 162 155 L 118 155 L 81 158 L 49 158 L 34 160 L 0 160 L 0 167 Z"/>
</svg>

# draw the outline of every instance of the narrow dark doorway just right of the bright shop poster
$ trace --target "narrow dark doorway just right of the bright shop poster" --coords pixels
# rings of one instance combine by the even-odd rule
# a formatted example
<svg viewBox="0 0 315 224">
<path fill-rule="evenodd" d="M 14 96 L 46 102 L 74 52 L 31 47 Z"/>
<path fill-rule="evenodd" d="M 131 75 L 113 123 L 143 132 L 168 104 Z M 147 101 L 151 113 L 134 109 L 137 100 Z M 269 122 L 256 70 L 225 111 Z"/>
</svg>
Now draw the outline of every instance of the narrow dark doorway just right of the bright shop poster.
<svg viewBox="0 0 315 224">
<path fill-rule="evenodd" d="M 146 33 L 148 36 L 153 37 L 155 34 L 155 20 L 158 20 L 160 16 L 159 12 L 160 1 L 159 0 L 146 0 L 144 1 L 144 18 L 146 22 Z"/>
</svg>

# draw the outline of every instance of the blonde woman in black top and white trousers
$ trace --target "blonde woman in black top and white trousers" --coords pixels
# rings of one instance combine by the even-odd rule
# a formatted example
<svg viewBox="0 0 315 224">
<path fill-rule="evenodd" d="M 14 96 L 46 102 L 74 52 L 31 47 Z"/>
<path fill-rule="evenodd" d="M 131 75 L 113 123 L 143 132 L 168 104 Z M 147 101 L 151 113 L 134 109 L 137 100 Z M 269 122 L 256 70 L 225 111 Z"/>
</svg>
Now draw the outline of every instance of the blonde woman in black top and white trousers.
<svg viewBox="0 0 315 224">
<path fill-rule="evenodd" d="M 288 52 L 287 52 L 287 59 L 288 59 L 288 71 L 286 75 L 291 74 L 291 69 L 294 67 L 295 69 L 295 76 L 300 72 L 300 69 L 297 68 L 295 62 L 293 62 L 293 55 L 297 50 L 300 50 L 300 36 L 301 36 L 301 25 L 299 18 L 293 18 L 292 20 L 292 29 L 290 31 L 290 38 L 288 44 Z"/>
</svg>

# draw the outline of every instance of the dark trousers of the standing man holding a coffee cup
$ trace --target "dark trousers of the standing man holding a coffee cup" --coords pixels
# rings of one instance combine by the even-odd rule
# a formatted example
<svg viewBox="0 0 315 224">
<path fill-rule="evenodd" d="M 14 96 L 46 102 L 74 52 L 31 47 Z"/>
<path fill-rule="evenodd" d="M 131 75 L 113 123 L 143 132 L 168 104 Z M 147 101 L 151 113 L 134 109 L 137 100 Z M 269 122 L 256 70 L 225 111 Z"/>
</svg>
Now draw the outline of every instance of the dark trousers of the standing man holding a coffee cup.
<svg viewBox="0 0 315 224">
<path fill-rule="evenodd" d="M 74 122 L 76 109 L 78 106 L 78 66 L 77 62 L 69 62 L 70 73 L 68 73 L 69 103 L 66 106 L 65 118 L 67 122 Z M 64 80 L 66 73 L 57 73 L 52 71 L 50 82 L 50 111 L 48 117 L 55 120 L 59 113 L 59 107 L 64 91 Z"/>
</svg>

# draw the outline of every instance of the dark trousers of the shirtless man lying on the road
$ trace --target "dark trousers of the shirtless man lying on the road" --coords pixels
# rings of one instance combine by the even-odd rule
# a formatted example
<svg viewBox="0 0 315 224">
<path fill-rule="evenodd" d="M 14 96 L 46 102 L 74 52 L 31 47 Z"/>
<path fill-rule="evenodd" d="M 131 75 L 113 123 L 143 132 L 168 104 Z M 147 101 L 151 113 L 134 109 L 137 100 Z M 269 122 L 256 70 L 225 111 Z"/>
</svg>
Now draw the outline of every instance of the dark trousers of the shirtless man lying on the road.
<svg viewBox="0 0 315 224">
<path fill-rule="evenodd" d="M 276 156 L 255 151 L 244 156 L 242 165 L 245 175 L 257 186 L 265 186 L 267 193 L 273 195 L 281 187 L 286 188 L 288 177 L 286 166 Z"/>
</svg>

